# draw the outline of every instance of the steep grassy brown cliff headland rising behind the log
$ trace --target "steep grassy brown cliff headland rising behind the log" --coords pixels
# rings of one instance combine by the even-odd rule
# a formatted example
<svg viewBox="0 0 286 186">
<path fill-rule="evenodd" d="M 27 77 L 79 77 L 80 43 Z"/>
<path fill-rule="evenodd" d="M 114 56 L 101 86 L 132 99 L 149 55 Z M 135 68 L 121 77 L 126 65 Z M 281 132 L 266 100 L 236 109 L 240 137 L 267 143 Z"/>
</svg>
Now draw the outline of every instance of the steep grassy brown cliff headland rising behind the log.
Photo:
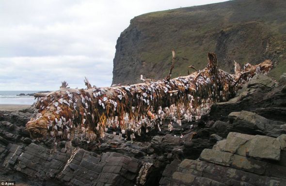
<svg viewBox="0 0 286 186">
<path fill-rule="evenodd" d="M 137 16 L 117 40 L 113 84 L 164 78 L 177 62 L 173 78 L 187 67 L 202 69 L 207 52 L 218 54 L 219 65 L 233 71 L 233 61 L 252 64 L 271 59 L 270 76 L 286 71 L 286 1 L 234 0 Z"/>
</svg>

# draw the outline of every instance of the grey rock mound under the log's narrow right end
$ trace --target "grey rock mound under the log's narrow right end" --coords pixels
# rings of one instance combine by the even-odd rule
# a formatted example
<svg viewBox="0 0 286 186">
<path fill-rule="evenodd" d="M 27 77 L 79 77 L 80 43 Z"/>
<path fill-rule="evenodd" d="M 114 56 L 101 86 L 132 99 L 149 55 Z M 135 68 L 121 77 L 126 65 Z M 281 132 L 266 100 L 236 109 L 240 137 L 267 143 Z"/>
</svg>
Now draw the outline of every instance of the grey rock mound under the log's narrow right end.
<svg viewBox="0 0 286 186">
<path fill-rule="evenodd" d="M 209 112 L 209 120 L 227 121 L 229 119 L 227 115 L 231 112 L 247 110 L 257 112 L 270 120 L 286 122 L 286 118 L 283 117 L 286 112 L 285 96 L 286 85 L 277 87 L 277 83 L 271 78 L 257 75 L 245 84 L 233 99 L 213 104 Z M 259 132 L 256 131 L 256 134 Z"/>
</svg>

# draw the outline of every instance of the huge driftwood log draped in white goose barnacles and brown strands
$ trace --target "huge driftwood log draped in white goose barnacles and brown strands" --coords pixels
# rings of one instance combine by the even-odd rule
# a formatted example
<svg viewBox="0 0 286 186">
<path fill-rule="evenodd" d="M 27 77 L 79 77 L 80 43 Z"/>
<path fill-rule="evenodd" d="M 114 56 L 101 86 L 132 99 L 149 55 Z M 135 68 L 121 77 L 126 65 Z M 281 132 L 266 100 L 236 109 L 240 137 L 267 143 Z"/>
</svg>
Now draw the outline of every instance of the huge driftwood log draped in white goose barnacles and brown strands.
<svg viewBox="0 0 286 186">
<path fill-rule="evenodd" d="M 185 77 L 171 78 L 173 63 L 167 78 L 126 86 L 104 88 L 92 87 L 85 78 L 87 89 L 71 89 L 63 82 L 59 91 L 35 94 L 39 114 L 26 124 L 32 138 L 54 137 L 70 140 L 83 135 L 87 140 L 103 138 L 108 128 L 120 130 L 128 137 L 150 128 L 160 130 L 162 120 L 171 118 L 168 125 L 181 124 L 207 114 L 214 102 L 227 101 L 234 97 L 238 88 L 256 73 L 267 73 L 272 68 L 269 60 L 257 65 L 247 63 L 240 70 L 235 63 L 235 74 L 218 68 L 214 53 L 208 53 L 207 67 Z M 130 135 L 130 136 L 129 136 Z"/>
</svg>

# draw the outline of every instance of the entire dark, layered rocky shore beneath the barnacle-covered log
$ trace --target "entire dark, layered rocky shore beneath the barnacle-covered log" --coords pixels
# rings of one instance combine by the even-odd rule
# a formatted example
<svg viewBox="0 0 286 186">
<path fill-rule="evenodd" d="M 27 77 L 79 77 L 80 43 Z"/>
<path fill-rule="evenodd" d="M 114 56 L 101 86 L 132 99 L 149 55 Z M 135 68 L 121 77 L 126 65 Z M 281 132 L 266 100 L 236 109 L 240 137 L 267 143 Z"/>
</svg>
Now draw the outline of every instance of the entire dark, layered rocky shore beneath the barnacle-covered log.
<svg viewBox="0 0 286 186">
<path fill-rule="evenodd" d="M 200 121 L 133 142 L 31 139 L 32 108 L 0 111 L 0 179 L 33 186 L 284 186 L 286 74 L 258 75 Z M 167 122 L 167 121 L 166 121 Z"/>
</svg>

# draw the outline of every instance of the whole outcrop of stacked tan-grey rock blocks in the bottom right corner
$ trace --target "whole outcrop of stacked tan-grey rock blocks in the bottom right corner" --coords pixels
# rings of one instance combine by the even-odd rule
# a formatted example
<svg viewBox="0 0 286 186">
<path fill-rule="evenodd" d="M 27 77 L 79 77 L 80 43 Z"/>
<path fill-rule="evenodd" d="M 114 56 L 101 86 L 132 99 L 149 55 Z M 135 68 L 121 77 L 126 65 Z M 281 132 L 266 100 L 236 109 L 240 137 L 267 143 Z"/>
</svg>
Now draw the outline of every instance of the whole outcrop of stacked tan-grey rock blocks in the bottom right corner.
<svg viewBox="0 0 286 186">
<path fill-rule="evenodd" d="M 284 186 L 285 140 L 229 133 L 198 159 L 167 165 L 160 186 Z"/>
</svg>

